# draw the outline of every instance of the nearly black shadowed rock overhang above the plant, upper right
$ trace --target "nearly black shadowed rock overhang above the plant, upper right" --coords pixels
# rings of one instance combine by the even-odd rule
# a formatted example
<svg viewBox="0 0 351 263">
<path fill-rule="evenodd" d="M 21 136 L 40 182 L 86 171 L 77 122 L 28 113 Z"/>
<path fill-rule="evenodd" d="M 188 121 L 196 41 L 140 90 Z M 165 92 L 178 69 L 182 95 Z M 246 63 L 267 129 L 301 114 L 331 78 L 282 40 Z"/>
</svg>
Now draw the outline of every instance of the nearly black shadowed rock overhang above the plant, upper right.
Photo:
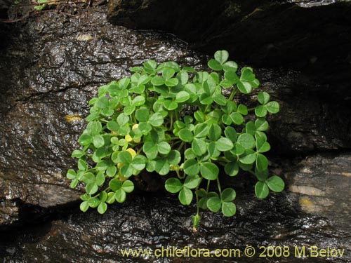
<svg viewBox="0 0 351 263">
<path fill-rule="evenodd" d="M 110 1 L 108 20 L 114 25 L 166 30 L 207 53 L 227 49 L 254 67 L 302 70 L 321 83 L 319 96 L 328 100 L 351 95 L 346 73 L 351 71 L 350 2 L 311 8 L 272 0 L 131 3 Z"/>
</svg>

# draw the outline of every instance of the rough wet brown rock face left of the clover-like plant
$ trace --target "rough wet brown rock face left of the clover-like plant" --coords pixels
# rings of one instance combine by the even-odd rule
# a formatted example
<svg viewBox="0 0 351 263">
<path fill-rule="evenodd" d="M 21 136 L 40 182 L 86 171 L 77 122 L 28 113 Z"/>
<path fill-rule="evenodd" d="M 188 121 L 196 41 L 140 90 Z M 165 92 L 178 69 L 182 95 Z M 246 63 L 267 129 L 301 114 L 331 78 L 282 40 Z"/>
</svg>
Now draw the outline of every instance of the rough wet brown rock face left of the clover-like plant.
<svg viewBox="0 0 351 263">
<path fill-rule="evenodd" d="M 105 7 L 78 20 L 55 12 L 10 27 L 0 50 L 1 224 L 20 223 L 26 205 L 51 208 L 79 200 L 65 174 L 88 114 L 104 83 L 148 59 L 197 65 L 183 41 L 112 27 Z"/>
</svg>

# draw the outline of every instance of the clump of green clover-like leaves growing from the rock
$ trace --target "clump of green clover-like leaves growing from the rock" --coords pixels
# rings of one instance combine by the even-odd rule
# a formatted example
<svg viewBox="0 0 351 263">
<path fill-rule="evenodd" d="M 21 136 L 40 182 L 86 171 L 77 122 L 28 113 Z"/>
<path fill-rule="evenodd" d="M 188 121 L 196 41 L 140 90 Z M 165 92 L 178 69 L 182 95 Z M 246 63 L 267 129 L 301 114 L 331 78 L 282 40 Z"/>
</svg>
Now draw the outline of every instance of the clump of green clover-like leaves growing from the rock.
<svg viewBox="0 0 351 263">
<path fill-rule="evenodd" d="M 85 184 L 82 211 L 97 207 L 105 213 L 107 203 L 124 202 L 134 189 L 131 177 L 143 170 L 168 175 L 165 188 L 178 193 L 183 205 L 196 196 L 194 228 L 199 208 L 221 210 L 227 217 L 236 213 L 236 192 L 221 188 L 220 167 L 231 177 L 240 170 L 255 175 L 258 198 L 284 189 L 280 177 L 269 177 L 264 155 L 270 150 L 265 116 L 279 112 L 279 104 L 261 91 L 258 106 L 238 105 L 234 96 L 249 94 L 260 83 L 251 67 L 238 76 L 237 63 L 228 56 L 225 50 L 215 53 L 208 61 L 213 72 L 150 60 L 133 67 L 131 77 L 99 88 L 78 140 L 83 149 L 72 153 L 78 170 L 67 172 L 72 188 Z M 213 183 L 217 191 L 211 191 Z"/>
</svg>

